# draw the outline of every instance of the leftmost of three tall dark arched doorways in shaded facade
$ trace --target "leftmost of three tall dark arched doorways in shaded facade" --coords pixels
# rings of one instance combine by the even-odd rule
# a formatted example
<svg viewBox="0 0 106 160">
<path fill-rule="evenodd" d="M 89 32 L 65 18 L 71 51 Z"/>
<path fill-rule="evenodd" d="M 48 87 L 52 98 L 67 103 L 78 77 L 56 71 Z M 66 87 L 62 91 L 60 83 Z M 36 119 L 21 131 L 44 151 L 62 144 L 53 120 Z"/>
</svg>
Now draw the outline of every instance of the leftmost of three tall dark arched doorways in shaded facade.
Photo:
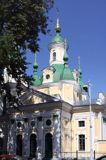
<svg viewBox="0 0 106 160">
<path fill-rule="evenodd" d="M 16 144 L 17 144 L 16 154 L 19 156 L 22 156 L 22 135 L 20 134 L 17 135 Z"/>
</svg>

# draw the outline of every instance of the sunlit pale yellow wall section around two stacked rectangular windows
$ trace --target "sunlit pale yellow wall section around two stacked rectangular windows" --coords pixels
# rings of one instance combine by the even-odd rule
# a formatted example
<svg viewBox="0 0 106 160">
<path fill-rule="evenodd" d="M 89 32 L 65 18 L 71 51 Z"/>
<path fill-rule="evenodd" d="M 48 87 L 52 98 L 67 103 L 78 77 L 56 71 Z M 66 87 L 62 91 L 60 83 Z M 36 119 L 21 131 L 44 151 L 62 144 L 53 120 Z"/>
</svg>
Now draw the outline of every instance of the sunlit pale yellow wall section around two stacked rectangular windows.
<svg viewBox="0 0 106 160">
<path fill-rule="evenodd" d="M 84 120 L 85 127 L 79 127 L 78 121 Z M 85 143 L 86 148 L 85 151 L 89 152 L 90 150 L 90 123 L 89 123 L 89 113 L 74 113 L 71 121 L 72 129 L 72 152 L 76 152 L 79 150 L 79 140 L 78 135 L 85 134 Z"/>
</svg>

